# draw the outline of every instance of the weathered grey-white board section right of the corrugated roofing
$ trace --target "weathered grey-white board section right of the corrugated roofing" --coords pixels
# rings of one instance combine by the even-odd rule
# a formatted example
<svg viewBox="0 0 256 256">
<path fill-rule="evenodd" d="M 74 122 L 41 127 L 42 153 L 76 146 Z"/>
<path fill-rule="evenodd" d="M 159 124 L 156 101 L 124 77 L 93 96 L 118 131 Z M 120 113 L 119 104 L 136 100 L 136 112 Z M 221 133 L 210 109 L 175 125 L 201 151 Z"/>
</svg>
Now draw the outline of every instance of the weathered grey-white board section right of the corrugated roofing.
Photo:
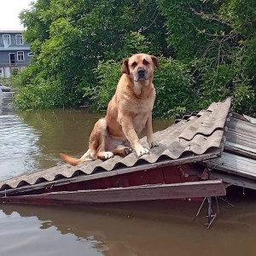
<svg viewBox="0 0 256 256">
<path fill-rule="evenodd" d="M 207 160 L 207 166 L 256 179 L 256 125 L 247 119 L 231 113 L 224 133 L 224 152 L 218 159 Z"/>
</svg>

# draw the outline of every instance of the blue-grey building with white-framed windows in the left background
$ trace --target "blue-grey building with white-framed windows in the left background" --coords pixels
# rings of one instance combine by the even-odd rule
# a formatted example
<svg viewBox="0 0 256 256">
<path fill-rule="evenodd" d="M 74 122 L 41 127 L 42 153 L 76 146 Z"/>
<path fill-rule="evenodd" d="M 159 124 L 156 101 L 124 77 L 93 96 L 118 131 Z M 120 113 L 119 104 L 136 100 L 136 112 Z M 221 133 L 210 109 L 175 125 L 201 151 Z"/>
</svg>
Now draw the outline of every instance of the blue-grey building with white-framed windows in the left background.
<svg viewBox="0 0 256 256">
<path fill-rule="evenodd" d="M 0 78 L 9 79 L 28 66 L 32 55 L 21 31 L 0 31 Z"/>
</svg>

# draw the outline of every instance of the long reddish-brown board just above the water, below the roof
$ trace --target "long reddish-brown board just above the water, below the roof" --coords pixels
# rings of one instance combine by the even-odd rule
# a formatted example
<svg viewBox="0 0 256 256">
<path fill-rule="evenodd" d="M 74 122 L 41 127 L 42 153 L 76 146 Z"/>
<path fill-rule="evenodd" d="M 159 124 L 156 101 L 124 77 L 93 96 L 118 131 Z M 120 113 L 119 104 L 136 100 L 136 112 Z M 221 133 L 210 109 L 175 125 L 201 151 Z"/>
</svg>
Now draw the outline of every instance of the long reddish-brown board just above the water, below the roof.
<svg viewBox="0 0 256 256">
<path fill-rule="evenodd" d="M 192 183 L 144 185 L 129 188 L 61 191 L 42 195 L 22 195 L 0 198 L 1 203 L 88 204 L 119 201 L 151 201 L 226 195 L 221 180 Z"/>
</svg>

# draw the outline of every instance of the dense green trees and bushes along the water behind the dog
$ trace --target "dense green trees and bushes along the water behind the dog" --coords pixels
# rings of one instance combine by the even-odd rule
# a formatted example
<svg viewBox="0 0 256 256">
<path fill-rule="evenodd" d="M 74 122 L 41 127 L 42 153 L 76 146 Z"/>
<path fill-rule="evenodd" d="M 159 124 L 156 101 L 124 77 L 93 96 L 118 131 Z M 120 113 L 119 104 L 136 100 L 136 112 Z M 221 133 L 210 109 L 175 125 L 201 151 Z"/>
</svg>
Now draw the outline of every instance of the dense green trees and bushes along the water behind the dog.
<svg viewBox="0 0 256 256">
<path fill-rule="evenodd" d="M 234 96 L 255 115 L 254 0 L 38 0 L 20 14 L 35 54 L 13 76 L 20 109 L 106 109 L 122 60 L 160 58 L 154 118 L 173 119 Z"/>
</svg>

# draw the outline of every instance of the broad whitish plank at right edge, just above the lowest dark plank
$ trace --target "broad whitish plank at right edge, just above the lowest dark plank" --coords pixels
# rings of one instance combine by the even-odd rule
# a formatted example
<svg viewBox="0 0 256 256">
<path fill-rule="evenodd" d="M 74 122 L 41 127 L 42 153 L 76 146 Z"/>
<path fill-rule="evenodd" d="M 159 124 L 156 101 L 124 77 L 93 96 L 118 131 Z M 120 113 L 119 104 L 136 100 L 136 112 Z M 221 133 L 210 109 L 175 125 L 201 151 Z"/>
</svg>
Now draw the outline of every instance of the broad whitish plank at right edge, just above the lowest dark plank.
<svg viewBox="0 0 256 256">
<path fill-rule="evenodd" d="M 206 162 L 207 166 L 210 166 L 212 169 L 256 179 L 256 160 L 223 152 L 220 158 L 207 160 Z"/>
</svg>

